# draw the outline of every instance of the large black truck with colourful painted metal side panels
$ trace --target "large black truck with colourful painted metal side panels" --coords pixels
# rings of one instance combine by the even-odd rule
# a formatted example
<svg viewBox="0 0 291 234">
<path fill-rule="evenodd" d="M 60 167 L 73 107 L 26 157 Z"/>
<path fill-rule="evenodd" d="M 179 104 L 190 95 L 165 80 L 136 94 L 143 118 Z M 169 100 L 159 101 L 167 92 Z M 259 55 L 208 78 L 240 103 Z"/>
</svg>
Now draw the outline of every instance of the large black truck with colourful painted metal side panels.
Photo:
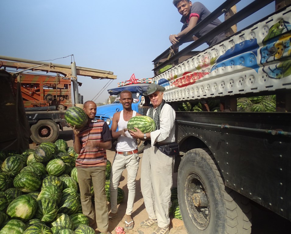
<svg viewBox="0 0 291 234">
<path fill-rule="evenodd" d="M 225 1 L 179 43 L 237 2 Z M 250 201 L 291 221 L 291 6 L 276 1 L 273 14 L 179 60 L 270 2 L 251 2 L 172 57 L 167 49 L 153 61 L 152 82 L 165 87 L 176 110 L 178 199 L 188 233 L 251 233 Z M 272 112 L 261 103 L 270 97 Z M 219 108 L 201 111 L 202 100 Z M 248 109 L 242 100 L 256 101 Z M 193 111 L 179 111 L 189 105 Z"/>
</svg>

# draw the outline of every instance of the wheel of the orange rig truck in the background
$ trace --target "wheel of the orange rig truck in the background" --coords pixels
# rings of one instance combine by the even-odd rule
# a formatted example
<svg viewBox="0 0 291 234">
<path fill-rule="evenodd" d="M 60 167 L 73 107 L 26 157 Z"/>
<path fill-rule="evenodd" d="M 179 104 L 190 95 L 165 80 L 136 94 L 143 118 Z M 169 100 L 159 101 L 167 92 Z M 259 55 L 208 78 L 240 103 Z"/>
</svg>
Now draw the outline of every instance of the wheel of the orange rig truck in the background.
<svg viewBox="0 0 291 234">
<path fill-rule="evenodd" d="M 39 120 L 30 127 L 30 130 L 30 138 L 37 144 L 55 142 L 59 137 L 59 127 L 55 121 L 51 119 Z"/>
</svg>

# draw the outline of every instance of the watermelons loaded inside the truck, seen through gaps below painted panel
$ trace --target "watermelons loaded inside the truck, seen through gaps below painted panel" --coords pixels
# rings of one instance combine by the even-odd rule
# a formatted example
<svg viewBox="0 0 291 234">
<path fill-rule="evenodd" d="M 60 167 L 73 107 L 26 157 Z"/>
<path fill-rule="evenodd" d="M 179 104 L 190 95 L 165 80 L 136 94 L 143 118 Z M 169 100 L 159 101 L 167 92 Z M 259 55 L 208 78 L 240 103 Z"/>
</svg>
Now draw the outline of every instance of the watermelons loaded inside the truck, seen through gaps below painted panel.
<svg viewBox="0 0 291 234">
<path fill-rule="evenodd" d="M 207 101 L 209 110 L 211 112 L 220 111 L 220 101 L 210 100 Z M 183 102 L 179 105 L 178 111 L 202 111 L 200 102 Z M 269 96 L 256 96 L 249 98 L 237 98 L 237 111 L 238 112 L 275 112 L 276 111 L 276 95 Z"/>
</svg>

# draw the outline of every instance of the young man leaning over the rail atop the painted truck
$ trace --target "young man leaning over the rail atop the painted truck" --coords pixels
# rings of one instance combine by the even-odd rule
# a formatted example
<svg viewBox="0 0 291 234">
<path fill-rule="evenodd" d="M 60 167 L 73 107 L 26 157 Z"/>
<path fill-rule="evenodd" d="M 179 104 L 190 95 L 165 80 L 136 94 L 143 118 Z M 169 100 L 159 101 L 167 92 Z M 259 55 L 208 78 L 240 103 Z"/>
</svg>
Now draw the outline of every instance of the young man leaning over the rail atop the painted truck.
<svg viewBox="0 0 291 234">
<path fill-rule="evenodd" d="M 169 36 L 170 42 L 175 45 L 179 42 L 179 39 L 194 28 L 197 23 L 205 19 L 211 12 L 200 2 L 194 2 L 192 4 L 189 0 L 174 0 L 173 4 L 178 9 L 178 12 L 182 15 L 181 22 L 183 23 L 181 32 L 178 34 L 171 34 Z M 207 34 L 221 23 L 219 19 L 215 19 L 199 32 L 193 35 L 193 41 L 196 41 L 199 37 Z M 224 33 L 220 33 L 207 41 L 208 46 L 218 43 L 225 38 Z M 178 48 L 176 48 L 178 49 Z"/>
</svg>

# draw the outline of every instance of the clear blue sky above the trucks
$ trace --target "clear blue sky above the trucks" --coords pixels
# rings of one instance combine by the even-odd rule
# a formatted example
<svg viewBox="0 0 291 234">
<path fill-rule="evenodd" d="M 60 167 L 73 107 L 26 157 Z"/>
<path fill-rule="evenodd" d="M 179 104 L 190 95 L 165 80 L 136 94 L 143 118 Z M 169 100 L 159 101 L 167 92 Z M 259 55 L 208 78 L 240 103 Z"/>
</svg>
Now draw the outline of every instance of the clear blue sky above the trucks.
<svg viewBox="0 0 291 234">
<path fill-rule="evenodd" d="M 224 1 L 202 2 L 213 11 Z M 237 11 L 250 2 L 242 0 Z M 268 5 L 255 19 L 274 8 L 274 3 Z M 182 27 L 180 18 L 172 0 L 6 0 L 1 2 L 0 55 L 39 61 L 73 54 L 76 66 L 112 71 L 117 80 L 95 100 L 104 102 L 107 89 L 129 80 L 133 73 L 136 78 L 153 77 L 151 61 L 169 48 L 169 35 Z M 248 24 L 244 20 L 238 30 Z M 206 44 L 198 49 L 204 48 Z M 70 65 L 71 58 L 51 62 Z M 83 83 L 79 93 L 84 101 L 108 83 L 84 76 L 78 81 Z"/>
</svg>

